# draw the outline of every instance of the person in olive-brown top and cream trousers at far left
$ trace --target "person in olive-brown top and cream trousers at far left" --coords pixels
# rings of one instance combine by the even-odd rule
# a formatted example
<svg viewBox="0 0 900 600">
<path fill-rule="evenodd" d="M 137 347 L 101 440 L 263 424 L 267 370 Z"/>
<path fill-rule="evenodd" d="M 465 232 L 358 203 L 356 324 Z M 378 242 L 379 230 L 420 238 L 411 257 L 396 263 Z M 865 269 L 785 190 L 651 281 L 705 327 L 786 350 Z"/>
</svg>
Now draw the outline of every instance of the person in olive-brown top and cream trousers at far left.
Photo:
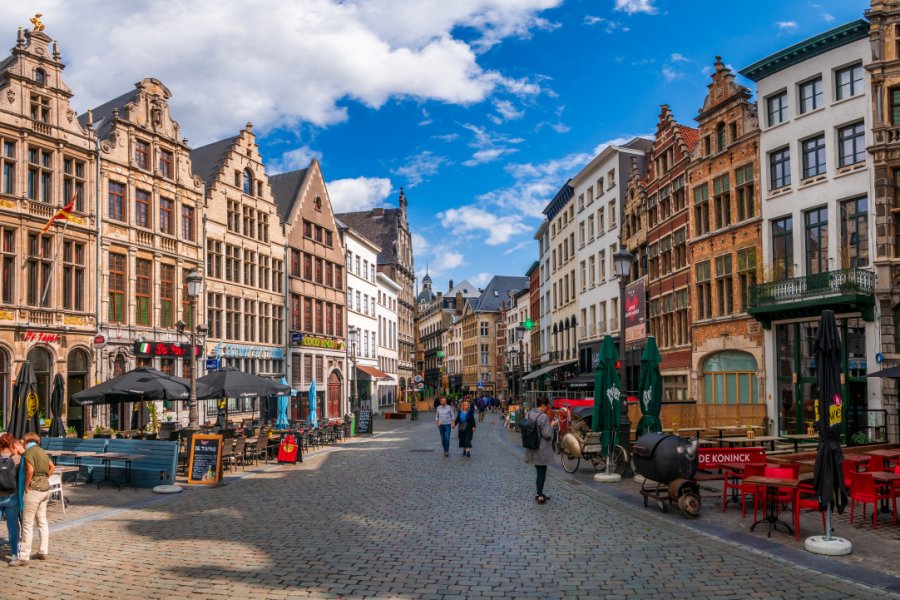
<svg viewBox="0 0 900 600">
<path fill-rule="evenodd" d="M 27 566 L 31 559 L 31 543 L 34 537 L 34 524 L 37 521 L 41 535 L 40 551 L 34 555 L 37 560 L 47 560 L 50 553 L 50 527 L 47 524 L 47 503 L 50 501 L 50 481 L 56 466 L 47 453 L 41 449 L 41 438 L 34 432 L 25 434 L 25 454 L 22 455 L 22 466 L 25 468 L 25 504 L 22 514 L 22 545 L 19 548 L 19 560 L 10 566 Z"/>
</svg>

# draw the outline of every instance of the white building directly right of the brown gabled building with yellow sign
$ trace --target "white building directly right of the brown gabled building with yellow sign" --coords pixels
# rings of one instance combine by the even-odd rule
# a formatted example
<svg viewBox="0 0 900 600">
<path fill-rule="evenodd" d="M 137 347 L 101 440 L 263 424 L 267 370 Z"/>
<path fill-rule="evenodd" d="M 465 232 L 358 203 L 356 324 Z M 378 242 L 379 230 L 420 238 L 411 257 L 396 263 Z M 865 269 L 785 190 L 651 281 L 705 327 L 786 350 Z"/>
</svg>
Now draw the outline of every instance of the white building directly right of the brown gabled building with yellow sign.
<svg viewBox="0 0 900 600">
<path fill-rule="evenodd" d="M 347 249 L 347 344 L 351 386 L 361 406 L 374 409 L 376 383 L 386 377 L 378 368 L 378 253 L 381 249 L 355 229 L 339 224 Z M 353 389 L 352 387 L 350 388 Z M 351 394 L 353 392 L 351 391 Z"/>
</svg>

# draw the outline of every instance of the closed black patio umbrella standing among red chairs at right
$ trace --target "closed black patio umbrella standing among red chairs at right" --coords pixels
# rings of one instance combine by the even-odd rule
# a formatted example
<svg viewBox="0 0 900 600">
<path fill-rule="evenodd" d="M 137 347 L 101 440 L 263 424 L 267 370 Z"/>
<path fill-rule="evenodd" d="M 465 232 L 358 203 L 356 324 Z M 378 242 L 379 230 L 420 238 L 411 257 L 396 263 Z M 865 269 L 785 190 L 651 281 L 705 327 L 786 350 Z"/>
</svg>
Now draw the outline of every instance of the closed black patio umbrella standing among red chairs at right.
<svg viewBox="0 0 900 600">
<path fill-rule="evenodd" d="M 841 407 L 841 339 L 834 320 L 834 312 L 822 311 L 819 330 L 813 343 L 816 360 L 816 379 L 819 384 L 817 401 L 819 413 L 819 446 L 816 452 L 813 488 L 819 498 L 820 510 L 826 511 L 826 539 L 831 539 L 831 510 L 844 512 L 847 488 L 841 464 L 844 454 L 840 444 L 840 422 L 831 423 L 832 406 Z M 840 412 L 840 408 L 837 412 Z"/>
</svg>

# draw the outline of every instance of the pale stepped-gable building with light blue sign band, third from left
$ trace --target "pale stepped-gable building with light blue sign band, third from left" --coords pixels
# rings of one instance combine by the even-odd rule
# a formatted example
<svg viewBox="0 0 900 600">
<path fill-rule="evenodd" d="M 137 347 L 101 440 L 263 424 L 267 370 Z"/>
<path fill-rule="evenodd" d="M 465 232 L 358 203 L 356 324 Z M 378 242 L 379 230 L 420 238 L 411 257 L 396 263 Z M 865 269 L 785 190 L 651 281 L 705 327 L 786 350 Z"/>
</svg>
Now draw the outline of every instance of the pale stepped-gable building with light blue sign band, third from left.
<svg viewBox="0 0 900 600">
<path fill-rule="evenodd" d="M 285 377 L 284 233 L 253 125 L 192 150 L 191 162 L 206 184 L 204 354 L 220 367 Z M 229 416 L 259 415 L 256 399 L 231 402 Z"/>
</svg>

